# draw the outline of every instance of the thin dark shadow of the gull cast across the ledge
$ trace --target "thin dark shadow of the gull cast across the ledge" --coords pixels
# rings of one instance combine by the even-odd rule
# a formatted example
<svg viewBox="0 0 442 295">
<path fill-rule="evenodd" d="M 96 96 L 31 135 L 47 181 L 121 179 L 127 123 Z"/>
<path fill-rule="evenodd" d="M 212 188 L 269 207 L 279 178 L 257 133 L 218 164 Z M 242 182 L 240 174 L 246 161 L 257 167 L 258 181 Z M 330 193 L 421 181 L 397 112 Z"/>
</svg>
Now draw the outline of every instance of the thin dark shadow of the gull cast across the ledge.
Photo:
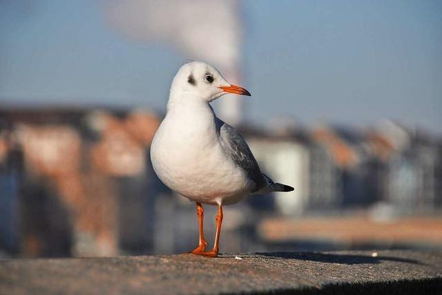
<svg viewBox="0 0 442 295">
<path fill-rule="evenodd" d="M 356 254 L 331 254 L 318 252 L 272 252 L 272 253 L 256 253 L 256 255 L 265 256 L 271 259 L 295 259 L 308 260 L 320 263 L 340 263 L 346 265 L 357 264 L 378 264 L 383 261 L 394 261 L 401 263 L 412 263 L 416 265 L 423 265 L 418 260 L 410 258 L 401 258 L 394 256 L 365 256 Z"/>
</svg>

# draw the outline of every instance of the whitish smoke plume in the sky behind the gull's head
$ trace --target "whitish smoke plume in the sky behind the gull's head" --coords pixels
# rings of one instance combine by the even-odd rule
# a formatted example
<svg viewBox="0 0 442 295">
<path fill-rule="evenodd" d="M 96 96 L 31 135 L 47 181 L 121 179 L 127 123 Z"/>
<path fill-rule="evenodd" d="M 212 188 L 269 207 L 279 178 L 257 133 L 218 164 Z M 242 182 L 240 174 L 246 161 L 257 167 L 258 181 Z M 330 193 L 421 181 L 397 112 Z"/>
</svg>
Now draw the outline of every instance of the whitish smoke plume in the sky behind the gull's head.
<svg viewBox="0 0 442 295">
<path fill-rule="evenodd" d="M 163 41 L 188 59 L 220 66 L 225 77 L 241 77 L 242 22 L 235 0 L 107 0 L 106 19 L 125 35 L 142 41 Z M 233 82 L 232 82 L 233 83 Z M 240 120 L 240 100 L 224 99 L 221 117 Z"/>
</svg>

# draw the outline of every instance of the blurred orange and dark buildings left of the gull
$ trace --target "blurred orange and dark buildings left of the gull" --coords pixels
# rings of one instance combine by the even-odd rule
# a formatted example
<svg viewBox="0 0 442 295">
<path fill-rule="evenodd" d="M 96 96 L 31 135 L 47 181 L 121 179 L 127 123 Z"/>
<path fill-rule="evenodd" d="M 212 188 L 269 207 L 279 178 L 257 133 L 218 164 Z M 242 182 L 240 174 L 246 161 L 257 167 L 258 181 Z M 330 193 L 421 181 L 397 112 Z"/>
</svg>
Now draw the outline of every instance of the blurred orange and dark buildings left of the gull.
<svg viewBox="0 0 442 295">
<path fill-rule="evenodd" d="M 146 149 L 159 124 L 155 115 L 6 109 L 0 117 L 8 123 L 2 134 L 9 134 L 1 142 L 0 198 L 7 249 L 108 256 L 152 247 Z"/>
</svg>

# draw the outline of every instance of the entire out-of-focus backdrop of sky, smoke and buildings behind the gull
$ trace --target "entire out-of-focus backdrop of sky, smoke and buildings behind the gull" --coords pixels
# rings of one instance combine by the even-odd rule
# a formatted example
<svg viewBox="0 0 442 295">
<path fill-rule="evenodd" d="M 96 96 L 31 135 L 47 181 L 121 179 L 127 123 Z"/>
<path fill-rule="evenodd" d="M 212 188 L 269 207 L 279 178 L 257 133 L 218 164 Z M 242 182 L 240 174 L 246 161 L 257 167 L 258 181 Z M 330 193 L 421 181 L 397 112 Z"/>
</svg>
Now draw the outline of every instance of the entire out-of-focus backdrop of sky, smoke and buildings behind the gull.
<svg viewBox="0 0 442 295">
<path fill-rule="evenodd" d="M 157 179 L 171 80 L 296 187 L 225 207 L 221 251 L 442 251 L 441 1 L 0 1 L 0 258 L 171 254 L 195 205 Z M 210 244 L 215 208 L 206 206 Z"/>
</svg>

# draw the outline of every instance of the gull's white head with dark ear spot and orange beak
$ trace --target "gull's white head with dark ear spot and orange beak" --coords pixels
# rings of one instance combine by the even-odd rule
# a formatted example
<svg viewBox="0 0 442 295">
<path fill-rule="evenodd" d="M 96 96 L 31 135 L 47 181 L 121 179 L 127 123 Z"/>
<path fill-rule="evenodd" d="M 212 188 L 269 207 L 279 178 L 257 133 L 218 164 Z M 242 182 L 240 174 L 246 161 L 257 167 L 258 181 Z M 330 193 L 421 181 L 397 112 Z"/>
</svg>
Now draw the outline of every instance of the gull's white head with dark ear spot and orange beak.
<svg viewBox="0 0 442 295">
<path fill-rule="evenodd" d="M 169 99 L 186 95 L 186 99 L 202 99 L 205 102 L 211 102 L 227 93 L 250 96 L 249 91 L 244 88 L 229 84 L 210 64 L 191 61 L 184 64 L 173 78 Z"/>
</svg>

